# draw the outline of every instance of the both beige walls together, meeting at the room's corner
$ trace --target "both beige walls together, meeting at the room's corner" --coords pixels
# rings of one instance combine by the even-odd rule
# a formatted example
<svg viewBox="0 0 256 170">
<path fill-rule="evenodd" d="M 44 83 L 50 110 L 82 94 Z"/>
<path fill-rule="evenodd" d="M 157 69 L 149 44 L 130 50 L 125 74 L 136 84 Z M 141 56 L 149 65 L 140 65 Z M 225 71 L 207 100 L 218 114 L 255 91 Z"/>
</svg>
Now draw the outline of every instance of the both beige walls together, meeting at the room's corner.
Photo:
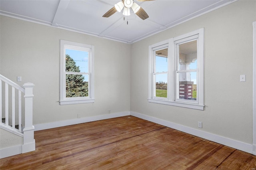
<svg viewBox="0 0 256 170">
<path fill-rule="evenodd" d="M 237 1 L 132 45 L 0 16 L 0 73 L 34 87 L 34 124 L 134 111 L 252 144 L 252 22 Z M 148 45 L 205 28 L 205 110 L 148 103 Z M 60 39 L 95 45 L 95 103 L 59 105 Z M 246 82 L 240 82 L 240 75 Z"/>
</svg>

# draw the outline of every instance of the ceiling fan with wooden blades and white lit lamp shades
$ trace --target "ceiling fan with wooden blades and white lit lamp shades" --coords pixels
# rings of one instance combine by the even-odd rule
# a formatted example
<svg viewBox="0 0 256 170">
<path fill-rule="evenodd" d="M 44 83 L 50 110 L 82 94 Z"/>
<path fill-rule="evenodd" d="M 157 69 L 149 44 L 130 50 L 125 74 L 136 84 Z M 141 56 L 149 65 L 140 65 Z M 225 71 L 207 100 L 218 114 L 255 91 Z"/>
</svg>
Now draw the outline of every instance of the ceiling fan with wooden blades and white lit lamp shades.
<svg viewBox="0 0 256 170">
<path fill-rule="evenodd" d="M 151 0 L 137 0 L 137 1 L 151 1 Z M 118 2 L 117 4 L 115 4 L 113 8 L 111 8 L 108 12 L 106 12 L 106 14 L 104 14 L 102 17 L 108 18 L 112 16 L 114 13 L 116 13 L 117 11 L 121 12 L 123 8 L 124 8 L 123 10 L 124 16 L 129 16 L 130 8 L 132 8 L 133 12 L 142 20 L 145 20 L 149 17 L 148 14 L 138 4 L 133 2 L 133 0 L 122 0 L 121 2 Z"/>
</svg>

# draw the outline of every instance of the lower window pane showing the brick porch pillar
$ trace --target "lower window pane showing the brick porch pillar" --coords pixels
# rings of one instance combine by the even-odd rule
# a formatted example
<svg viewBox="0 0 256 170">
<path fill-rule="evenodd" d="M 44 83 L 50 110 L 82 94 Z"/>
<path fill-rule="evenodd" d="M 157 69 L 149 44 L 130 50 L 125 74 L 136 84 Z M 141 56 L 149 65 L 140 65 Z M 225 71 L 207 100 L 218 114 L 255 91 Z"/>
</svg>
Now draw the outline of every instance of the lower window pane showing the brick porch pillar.
<svg viewBox="0 0 256 170">
<path fill-rule="evenodd" d="M 197 96 L 196 71 L 178 73 L 178 77 L 179 77 L 178 99 L 196 100 L 196 96 Z M 184 77 L 186 77 L 186 80 L 184 80 Z"/>
</svg>

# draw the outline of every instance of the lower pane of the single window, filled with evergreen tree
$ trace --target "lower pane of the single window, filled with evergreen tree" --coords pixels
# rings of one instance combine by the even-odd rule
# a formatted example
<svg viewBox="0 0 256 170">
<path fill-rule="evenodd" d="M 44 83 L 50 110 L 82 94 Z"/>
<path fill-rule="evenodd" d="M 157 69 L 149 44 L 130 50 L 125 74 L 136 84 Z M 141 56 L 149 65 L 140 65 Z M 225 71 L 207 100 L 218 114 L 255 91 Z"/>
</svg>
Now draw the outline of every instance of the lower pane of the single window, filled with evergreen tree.
<svg viewBox="0 0 256 170">
<path fill-rule="evenodd" d="M 66 74 L 66 97 L 88 96 L 88 75 Z"/>
</svg>

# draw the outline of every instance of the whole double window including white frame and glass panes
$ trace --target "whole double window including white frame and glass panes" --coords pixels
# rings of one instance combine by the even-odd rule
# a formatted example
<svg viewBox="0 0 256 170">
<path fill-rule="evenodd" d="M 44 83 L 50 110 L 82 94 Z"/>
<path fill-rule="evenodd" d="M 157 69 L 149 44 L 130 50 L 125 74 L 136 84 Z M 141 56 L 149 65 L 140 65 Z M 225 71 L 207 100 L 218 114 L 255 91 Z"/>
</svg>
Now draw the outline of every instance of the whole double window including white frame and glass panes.
<svg viewBox="0 0 256 170">
<path fill-rule="evenodd" d="M 204 110 L 204 29 L 149 46 L 149 102 Z"/>
</svg>

